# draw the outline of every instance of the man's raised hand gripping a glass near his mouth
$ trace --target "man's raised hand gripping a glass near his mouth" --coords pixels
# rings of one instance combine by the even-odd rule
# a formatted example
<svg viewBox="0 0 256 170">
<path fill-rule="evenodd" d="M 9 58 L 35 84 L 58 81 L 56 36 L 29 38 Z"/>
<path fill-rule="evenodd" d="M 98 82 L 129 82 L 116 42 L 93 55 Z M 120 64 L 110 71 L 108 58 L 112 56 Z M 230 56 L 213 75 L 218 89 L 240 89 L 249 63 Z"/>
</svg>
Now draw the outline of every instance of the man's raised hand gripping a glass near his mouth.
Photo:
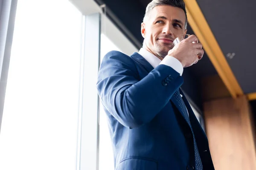
<svg viewBox="0 0 256 170">
<path fill-rule="evenodd" d="M 204 50 L 202 44 L 198 42 L 198 38 L 195 35 L 191 35 L 188 38 L 182 40 L 175 45 L 167 54 L 178 59 L 183 67 L 189 67 L 202 59 Z"/>
</svg>

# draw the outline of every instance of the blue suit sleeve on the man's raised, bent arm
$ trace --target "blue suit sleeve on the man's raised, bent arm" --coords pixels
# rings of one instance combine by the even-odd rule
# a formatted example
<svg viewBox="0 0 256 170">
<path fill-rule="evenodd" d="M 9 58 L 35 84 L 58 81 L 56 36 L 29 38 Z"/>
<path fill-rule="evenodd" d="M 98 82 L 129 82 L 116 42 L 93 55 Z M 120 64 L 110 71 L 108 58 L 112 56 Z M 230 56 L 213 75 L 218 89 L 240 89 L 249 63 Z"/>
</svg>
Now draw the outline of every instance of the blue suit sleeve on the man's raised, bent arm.
<svg viewBox="0 0 256 170">
<path fill-rule="evenodd" d="M 150 122 L 182 83 L 180 74 L 167 65 L 158 65 L 140 80 L 131 57 L 111 51 L 102 60 L 97 89 L 113 117 L 134 128 Z"/>
</svg>

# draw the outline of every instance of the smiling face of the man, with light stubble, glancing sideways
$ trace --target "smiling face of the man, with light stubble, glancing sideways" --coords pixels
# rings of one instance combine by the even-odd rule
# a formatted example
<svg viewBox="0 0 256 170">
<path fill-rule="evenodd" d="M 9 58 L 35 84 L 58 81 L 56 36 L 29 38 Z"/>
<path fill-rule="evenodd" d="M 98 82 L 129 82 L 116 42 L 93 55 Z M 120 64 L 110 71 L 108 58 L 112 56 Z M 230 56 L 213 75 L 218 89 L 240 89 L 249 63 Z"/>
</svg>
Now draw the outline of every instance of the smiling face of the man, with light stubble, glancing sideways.
<svg viewBox="0 0 256 170">
<path fill-rule="evenodd" d="M 185 12 L 181 8 L 167 5 L 154 7 L 145 23 L 141 24 L 144 45 L 157 57 L 164 58 L 173 48 L 173 40 L 186 34 L 185 20 Z"/>
</svg>

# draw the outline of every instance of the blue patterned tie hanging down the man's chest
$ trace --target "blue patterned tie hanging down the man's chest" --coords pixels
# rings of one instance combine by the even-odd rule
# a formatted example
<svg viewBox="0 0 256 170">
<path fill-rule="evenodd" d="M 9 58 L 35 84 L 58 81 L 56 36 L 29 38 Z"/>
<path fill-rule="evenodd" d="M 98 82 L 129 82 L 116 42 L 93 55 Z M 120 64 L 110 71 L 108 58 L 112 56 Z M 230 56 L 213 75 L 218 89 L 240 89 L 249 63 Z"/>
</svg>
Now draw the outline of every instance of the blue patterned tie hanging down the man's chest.
<svg viewBox="0 0 256 170">
<path fill-rule="evenodd" d="M 194 133 L 193 133 L 193 130 L 192 130 L 192 127 L 191 127 L 191 123 L 190 123 L 190 120 L 189 120 L 189 113 L 186 109 L 186 105 L 185 105 L 183 99 L 180 96 L 180 91 L 179 90 L 177 90 L 175 92 L 174 96 L 175 96 L 175 99 L 177 99 L 177 101 L 179 103 L 179 106 L 181 108 L 181 111 L 183 112 L 182 114 L 184 115 L 186 121 L 188 122 L 189 127 L 191 128 L 191 131 L 192 131 L 192 134 L 193 134 L 194 147 L 195 147 L 195 169 L 196 170 L 203 170 L 203 164 L 201 162 L 201 158 L 200 158 L 200 155 L 199 155 L 199 152 L 198 152 L 198 147 L 197 147 L 197 144 L 195 142 L 195 136 L 194 136 Z"/>
</svg>

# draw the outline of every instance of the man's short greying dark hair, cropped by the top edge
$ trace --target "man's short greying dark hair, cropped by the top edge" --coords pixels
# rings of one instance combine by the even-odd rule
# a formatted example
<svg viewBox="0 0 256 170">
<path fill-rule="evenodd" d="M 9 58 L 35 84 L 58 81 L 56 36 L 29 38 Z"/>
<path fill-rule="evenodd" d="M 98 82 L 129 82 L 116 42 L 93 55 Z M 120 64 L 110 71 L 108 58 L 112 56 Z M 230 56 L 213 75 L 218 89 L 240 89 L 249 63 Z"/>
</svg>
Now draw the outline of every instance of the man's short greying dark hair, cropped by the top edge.
<svg viewBox="0 0 256 170">
<path fill-rule="evenodd" d="M 181 8 L 184 12 L 185 12 L 185 16 L 186 16 L 186 20 L 185 20 L 185 29 L 187 27 L 187 23 L 188 23 L 188 18 L 187 18 L 187 14 L 186 14 L 186 7 L 185 7 L 185 3 L 183 0 L 152 0 L 147 8 L 146 8 L 146 12 L 145 12 L 145 16 L 143 18 L 143 22 L 145 22 L 146 18 L 148 17 L 150 11 L 156 7 L 156 6 L 160 6 L 160 5 L 169 5 L 169 6 L 174 6 L 177 8 Z"/>
</svg>

